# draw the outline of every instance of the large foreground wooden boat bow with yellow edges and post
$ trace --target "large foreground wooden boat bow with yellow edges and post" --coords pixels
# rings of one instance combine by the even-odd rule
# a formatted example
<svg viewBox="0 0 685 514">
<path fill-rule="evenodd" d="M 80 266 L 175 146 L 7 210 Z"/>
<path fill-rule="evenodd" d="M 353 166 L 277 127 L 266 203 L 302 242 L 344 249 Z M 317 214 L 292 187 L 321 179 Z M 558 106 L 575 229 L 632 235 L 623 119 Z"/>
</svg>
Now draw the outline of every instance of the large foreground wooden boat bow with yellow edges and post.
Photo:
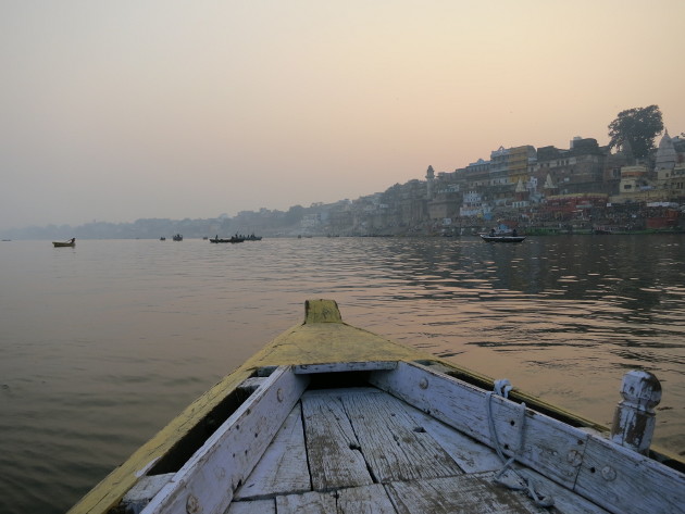
<svg viewBox="0 0 685 514">
<path fill-rule="evenodd" d="M 67 514 L 682 513 L 685 463 L 649 448 L 661 385 L 621 394 L 609 434 L 309 300 Z"/>
</svg>

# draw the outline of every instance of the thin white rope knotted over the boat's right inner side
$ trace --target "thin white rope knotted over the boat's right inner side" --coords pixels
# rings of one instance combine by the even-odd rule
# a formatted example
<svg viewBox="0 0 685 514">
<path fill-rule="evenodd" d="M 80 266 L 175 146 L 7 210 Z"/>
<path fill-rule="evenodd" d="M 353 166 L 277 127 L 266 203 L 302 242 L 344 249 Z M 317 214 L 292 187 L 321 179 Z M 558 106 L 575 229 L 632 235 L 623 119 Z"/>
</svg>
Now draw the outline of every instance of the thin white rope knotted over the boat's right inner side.
<svg viewBox="0 0 685 514">
<path fill-rule="evenodd" d="M 499 456 L 500 461 L 503 464 L 502 468 L 497 473 L 497 475 L 495 475 L 495 481 L 497 484 L 501 484 L 502 486 L 508 487 L 509 489 L 525 490 L 528 493 L 528 496 L 533 499 L 536 505 L 550 507 L 555 504 L 555 499 L 551 497 L 551 494 L 547 494 L 547 496 L 538 494 L 538 492 L 536 491 L 535 482 L 528 476 L 528 474 L 524 473 L 522 469 L 515 469 L 514 467 L 511 467 L 511 465 L 516 461 L 516 453 L 523 451 L 524 443 L 525 443 L 525 425 L 524 425 L 525 424 L 525 403 L 521 402 L 520 411 L 519 411 L 520 412 L 520 419 L 519 419 L 520 439 L 519 439 L 518 452 L 512 451 L 511 456 L 507 459 L 499 443 L 499 438 L 497 437 L 497 430 L 495 428 L 495 418 L 493 416 L 491 399 L 494 394 L 507 398 L 509 396 L 509 391 L 511 391 L 512 389 L 513 389 L 512 385 L 506 378 L 502 380 L 496 380 L 495 390 L 488 391 L 485 397 L 486 402 L 487 402 L 487 421 L 488 421 L 488 426 L 490 429 L 490 439 L 493 440 L 493 444 L 495 446 L 495 451 L 497 452 L 497 455 Z M 522 484 L 518 484 L 518 485 L 510 484 L 501 479 L 501 476 L 509 468 L 514 473 L 514 475 L 519 478 L 519 480 L 521 480 Z"/>
</svg>

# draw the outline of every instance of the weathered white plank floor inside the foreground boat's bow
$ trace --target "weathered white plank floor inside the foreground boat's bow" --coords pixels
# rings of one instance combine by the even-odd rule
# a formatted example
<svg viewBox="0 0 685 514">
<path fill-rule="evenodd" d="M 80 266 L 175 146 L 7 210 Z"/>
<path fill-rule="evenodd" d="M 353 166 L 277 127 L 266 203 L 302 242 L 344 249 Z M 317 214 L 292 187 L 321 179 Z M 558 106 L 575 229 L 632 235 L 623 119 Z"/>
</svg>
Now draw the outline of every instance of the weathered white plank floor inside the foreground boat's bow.
<svg viewBox="0 0 685 514">
<path fill-rule="evenodd" d="M 496 484 L 500 468 L 488 447 L 379 389 L 309 390 L 226 513 L 606 514 L 536 475 L 556 499 L 539 507 Z"/>
</svg>

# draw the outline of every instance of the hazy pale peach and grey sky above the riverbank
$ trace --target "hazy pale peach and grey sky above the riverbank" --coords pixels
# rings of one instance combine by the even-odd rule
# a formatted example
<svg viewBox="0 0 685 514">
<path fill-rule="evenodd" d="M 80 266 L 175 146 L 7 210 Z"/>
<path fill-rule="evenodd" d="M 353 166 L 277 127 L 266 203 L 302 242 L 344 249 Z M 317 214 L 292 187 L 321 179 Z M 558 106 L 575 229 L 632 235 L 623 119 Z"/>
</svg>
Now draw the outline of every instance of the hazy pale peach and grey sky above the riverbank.
<svg viewBox="0 0 685 514">
<path fill-rule="evenodd" d="M 0 0 L 0 228 L 383 191 L 500 145 L 685 131 L 683 0 Z"/>
</svg>

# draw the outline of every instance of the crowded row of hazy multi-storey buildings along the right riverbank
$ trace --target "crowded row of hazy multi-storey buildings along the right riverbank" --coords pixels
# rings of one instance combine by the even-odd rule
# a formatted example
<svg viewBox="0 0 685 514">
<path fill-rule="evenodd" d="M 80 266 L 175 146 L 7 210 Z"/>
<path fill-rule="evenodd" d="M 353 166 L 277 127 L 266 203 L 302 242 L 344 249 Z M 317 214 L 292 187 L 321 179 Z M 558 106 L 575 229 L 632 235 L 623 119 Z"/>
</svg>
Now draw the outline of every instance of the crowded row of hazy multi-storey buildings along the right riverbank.
<svg viewBox="0 0 685 514">
<path fill-rule="evenodd" d="M 301 231 L 471 234 L 498 225 L 528 233 L 682 230 L 685 139 L 667 130 L 658 150 L 640 161 L 630 148 L 612 153 L 591 138 L 575 137 L 568 149 L 500 147 L 487 161 L 453 172 L 428 166 L 425 180 L 312 210 Z"/>
</svg>

